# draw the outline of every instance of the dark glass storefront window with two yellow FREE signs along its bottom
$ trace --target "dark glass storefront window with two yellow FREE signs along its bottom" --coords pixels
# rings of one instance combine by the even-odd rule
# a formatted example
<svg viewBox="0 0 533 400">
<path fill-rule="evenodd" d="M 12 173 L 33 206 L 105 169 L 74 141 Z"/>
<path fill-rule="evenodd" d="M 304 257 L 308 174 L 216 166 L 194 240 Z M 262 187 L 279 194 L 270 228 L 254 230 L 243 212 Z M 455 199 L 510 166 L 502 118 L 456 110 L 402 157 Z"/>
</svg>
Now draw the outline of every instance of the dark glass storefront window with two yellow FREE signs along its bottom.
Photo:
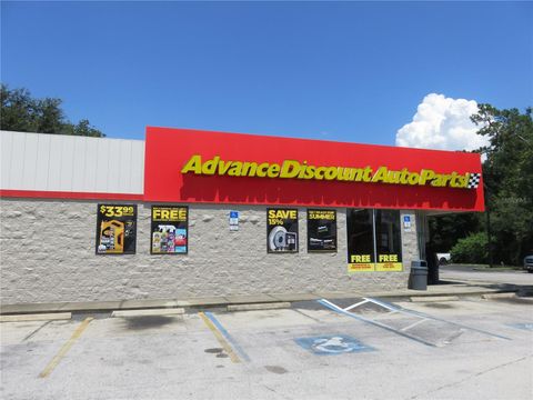
<svg viewBox="0 0 533 400">
<path fill-rule="evenodd" d="M 346 228 L 349 272 L 402 270 L 399 210 L 349 209 Z"/>
</svg>

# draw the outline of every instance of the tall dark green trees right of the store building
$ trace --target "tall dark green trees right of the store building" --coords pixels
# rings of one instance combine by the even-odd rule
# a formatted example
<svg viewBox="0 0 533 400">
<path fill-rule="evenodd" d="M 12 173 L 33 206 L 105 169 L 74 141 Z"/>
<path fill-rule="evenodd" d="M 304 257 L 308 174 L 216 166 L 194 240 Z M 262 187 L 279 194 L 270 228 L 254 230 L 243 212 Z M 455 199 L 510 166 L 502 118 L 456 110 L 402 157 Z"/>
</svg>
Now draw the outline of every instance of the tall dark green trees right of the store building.
<svg viewBox="0 0 533 400">
<path fill-rule="evenodd" d="M 491 219 L 493 262 L 519 266 L 533 253 L 533 120 L 532 109 L 499 110 L 480 104 L 472 121 L 489 146 L 483 183 Z M 440 251 L 473 232 L 486 231 L 484 214 L 452 214 L 430 219 L 430 238 Z M 455 248 L 455 247 L 454 247 Z M 463 261 L 465 262 L 465 261 Z"/>
</svg>

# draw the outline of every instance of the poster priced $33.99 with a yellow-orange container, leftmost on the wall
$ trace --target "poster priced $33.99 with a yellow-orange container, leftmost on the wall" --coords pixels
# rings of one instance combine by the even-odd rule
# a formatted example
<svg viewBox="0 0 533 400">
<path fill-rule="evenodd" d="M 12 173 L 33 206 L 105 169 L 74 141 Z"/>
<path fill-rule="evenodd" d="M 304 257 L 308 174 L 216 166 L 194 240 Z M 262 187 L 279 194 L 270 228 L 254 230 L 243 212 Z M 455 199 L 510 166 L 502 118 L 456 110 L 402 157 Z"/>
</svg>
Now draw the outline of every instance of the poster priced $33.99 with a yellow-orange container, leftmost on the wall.
<svg viewBox="0 0 533 400">
<path fill-rule="evenodd" d="M 98 204 L 97 254 L 134 254 L 137 204 Z"/>
</svg>

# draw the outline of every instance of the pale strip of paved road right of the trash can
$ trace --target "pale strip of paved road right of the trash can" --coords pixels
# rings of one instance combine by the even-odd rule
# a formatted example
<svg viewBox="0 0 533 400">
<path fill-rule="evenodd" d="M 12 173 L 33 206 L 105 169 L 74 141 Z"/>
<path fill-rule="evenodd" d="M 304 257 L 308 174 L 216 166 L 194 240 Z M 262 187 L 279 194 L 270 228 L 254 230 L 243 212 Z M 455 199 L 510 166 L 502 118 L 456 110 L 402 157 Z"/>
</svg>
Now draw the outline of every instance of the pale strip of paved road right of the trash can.
<svg viewBox="0 0 533 400">
<path fill-rule="evenodd" d="M 444 266 L 440 268 L 440 279 L 533 286 L 533 273 L 522 270 L 476 271 L 472 267 Z"/>
</svg>

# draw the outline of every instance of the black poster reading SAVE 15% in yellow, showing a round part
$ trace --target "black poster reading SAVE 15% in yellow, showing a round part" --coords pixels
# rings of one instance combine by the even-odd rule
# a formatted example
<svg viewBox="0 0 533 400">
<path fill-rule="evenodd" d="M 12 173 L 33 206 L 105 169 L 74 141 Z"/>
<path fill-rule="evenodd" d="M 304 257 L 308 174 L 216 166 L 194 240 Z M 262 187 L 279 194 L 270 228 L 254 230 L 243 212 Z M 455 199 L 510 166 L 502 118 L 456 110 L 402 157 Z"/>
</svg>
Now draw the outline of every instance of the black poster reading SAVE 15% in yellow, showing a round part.
<svg viewBox="0 0 533 400">
<path fill-rule="evenodd" d="M 266 251 L 298 252 L 296 209 L 266 209 Z"/>
</svg>

